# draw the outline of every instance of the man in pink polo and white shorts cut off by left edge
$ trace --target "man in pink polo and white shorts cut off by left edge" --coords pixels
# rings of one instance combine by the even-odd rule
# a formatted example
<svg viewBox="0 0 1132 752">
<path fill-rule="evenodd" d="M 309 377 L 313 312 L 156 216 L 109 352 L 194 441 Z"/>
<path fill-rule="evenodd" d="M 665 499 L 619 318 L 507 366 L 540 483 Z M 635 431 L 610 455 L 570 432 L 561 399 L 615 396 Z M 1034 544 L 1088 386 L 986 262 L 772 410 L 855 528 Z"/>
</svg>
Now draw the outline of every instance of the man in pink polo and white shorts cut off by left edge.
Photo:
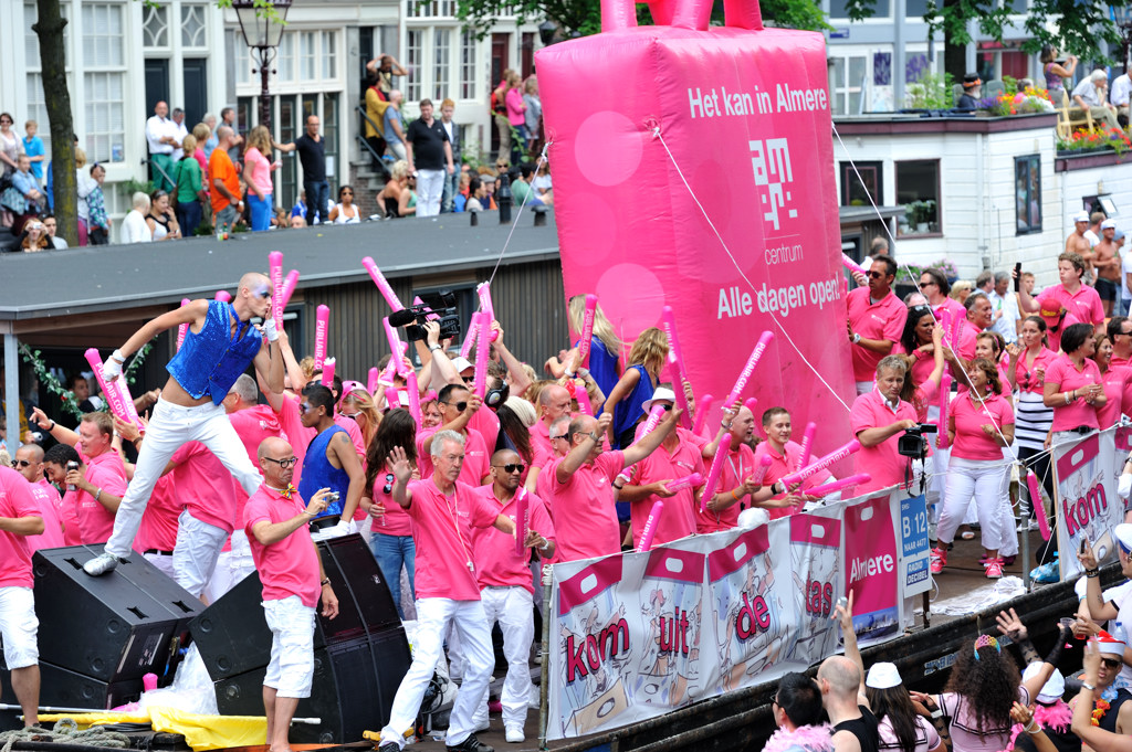
<svg viewBox="0 0 1132 752">
<path fill-rule="evenodd" d="M 27 536 L 42 533 L 43 519 L 27 479 L 10 467 L 0 467 L 0 639 L 11 688 L 24 710 L 24 726 L 40 723 L 40 622 Z"/>
</svg>

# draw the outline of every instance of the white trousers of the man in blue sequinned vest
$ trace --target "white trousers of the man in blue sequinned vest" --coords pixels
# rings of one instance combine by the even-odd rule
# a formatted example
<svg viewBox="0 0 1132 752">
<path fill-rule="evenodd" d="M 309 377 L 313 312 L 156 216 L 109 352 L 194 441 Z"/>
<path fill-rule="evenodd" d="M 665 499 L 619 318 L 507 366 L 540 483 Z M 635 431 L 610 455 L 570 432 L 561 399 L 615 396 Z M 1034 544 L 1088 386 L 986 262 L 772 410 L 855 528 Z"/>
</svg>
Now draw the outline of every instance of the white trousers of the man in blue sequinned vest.
<svg viewBox="0 0 1132 752">
<path fill-rule="evenodd" d="M 249 496 L 264 482 L 259 470 L 248 459 L 243 442 L 235 434 L 223 407 L 212 403 L 182 407 L 158 399 L 145 441 L 142 442 L 137 465 L 134 466 L 134 479 L 114 515 L 114 533 L 106 542 L 108 553 L 119 559 L 130 555 L 130 545 L 138 534 L 154 484 L 173 453 L 190 441 L 199 441 L 208 447 Z"/>
</svg>

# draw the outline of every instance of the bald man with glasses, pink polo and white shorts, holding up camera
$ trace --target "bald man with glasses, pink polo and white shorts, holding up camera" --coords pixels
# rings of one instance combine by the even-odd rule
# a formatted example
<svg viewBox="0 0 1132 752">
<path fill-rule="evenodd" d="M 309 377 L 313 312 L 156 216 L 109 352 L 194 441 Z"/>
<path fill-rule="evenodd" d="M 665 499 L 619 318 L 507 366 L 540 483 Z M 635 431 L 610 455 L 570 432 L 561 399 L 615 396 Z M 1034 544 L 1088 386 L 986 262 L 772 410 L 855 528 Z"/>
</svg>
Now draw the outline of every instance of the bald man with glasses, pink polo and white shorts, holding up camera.
<svg viewBox="0 0 1132 752">
<path fill-rule="evenodd" d="M 338 599 L 310 539 L 308 524 L 326 509 L 325 490 L 303 504 L 291 485 L 298 461 L 282 439 L 259 446 L 264 483 L 243 508 L 243 530 L 263 582 L 264 617 L 272 631 L 272 659 L 264 676 L 267 743 L 290 750 L 288 731 L 299 700 L 310 697 L 315 676 L 315 610 L 338 615 Z"/>
</svg>

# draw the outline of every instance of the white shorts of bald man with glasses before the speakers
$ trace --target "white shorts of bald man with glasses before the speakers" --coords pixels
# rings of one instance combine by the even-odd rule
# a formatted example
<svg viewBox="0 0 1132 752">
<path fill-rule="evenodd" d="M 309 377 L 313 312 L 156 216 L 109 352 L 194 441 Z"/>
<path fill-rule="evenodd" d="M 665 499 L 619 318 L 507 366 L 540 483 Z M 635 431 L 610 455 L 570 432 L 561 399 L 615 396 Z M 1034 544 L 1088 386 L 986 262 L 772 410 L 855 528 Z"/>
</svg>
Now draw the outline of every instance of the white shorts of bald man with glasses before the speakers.
<svg viewBox="0 0 1132 752">
<path fill-rule="evenodd" d="M 264 616 L 272 631 L 272 662 L 264 686 L 281 698 L 309 698 L 315 678 L 315 610 L 293 595 L 264 600 Z"/>
</svg>

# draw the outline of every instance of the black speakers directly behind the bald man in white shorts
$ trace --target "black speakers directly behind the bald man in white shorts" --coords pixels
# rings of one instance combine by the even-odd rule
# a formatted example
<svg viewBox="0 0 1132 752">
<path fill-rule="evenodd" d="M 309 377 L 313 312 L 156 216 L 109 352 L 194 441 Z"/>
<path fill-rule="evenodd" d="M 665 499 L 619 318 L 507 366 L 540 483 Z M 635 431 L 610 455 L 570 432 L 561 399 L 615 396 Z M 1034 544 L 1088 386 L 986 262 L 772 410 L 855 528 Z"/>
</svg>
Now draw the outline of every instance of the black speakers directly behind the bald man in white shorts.
<svg viewBox="0 0 1132 752">
<path fill-rule="evenodd" d="M 361 536 L 324 541 L 318 550 L 338 615 L 331 620 L 319 613 L 316 620 L 314 684 L 295 711 L 297 718 L 319 720 L 292 725 L 290 740 L 343 744 L 388 723 L 411 658 L 389 588 Z M 189 624 L 222 715 L 264 714 L 272 634 L 261 598 L 259 576 L 252 573 Z"/>
</svg>

